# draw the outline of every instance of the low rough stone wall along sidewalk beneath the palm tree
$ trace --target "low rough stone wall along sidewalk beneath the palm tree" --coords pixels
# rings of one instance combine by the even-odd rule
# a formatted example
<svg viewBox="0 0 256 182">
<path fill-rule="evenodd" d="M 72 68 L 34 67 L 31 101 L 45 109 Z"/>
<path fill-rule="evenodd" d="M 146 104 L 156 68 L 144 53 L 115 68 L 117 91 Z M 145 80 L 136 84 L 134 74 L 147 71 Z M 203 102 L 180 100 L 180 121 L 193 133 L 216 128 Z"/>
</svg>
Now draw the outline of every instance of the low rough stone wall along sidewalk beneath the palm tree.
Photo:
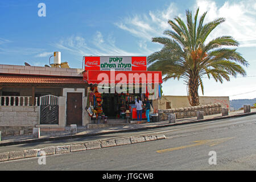
<svg viewBox="0 0 256 182">
<path fill-rule="evenodd" d="M 159 109 L 159 121 L 167 121 L 168 114 L 176 114 L 176 119 L 196 117 L 197 111 L 204 111 L 204 115 L 220 114 L 221 104 L 192 106 L 177 109 Z"/>
</svg>

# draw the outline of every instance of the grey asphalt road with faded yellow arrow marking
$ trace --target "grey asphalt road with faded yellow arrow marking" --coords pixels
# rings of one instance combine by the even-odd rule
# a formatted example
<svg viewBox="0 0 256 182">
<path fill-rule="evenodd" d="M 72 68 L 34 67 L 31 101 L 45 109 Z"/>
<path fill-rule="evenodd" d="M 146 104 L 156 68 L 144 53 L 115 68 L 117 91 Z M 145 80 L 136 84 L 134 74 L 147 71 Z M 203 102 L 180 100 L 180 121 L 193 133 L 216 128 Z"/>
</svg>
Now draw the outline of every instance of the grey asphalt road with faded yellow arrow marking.
<svg viewBox="0 0 256 182">
<path fill-rule="evenodd" d="M 146 133 L 164 134 L 167 139 L 46 156 L 46 165 L 39 165 L 38 158 L 2 162 L 0 170 L 256 170 L 255 115 L 79 140 Z M 55 144 L 76 140 L 55 141 Z M 48 144 L 53 145 L 34 143 L 26 147 Z M 209 164 L 210 151 L 216 152 L 216 165 Z"/>
</svg>

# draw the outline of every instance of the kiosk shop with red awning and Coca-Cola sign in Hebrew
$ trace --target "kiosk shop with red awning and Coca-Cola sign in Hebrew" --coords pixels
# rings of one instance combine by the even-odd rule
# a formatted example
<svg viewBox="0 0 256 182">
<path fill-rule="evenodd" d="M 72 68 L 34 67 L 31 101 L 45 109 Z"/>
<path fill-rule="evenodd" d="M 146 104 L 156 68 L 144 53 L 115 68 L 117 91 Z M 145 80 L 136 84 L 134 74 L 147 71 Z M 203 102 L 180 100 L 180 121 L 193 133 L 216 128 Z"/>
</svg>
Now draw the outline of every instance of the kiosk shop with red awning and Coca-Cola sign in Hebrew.
<svg viewBox="0 0 256 182">
<path fill-rule="evenodd" d="M 85 56 L 84 61 L 86 109 L 91 119 L 96 119 L 90 123 L 100 123 L 98 117 L 137 120 L 137 97 L 142 102 L 146 97 L 152 102 L 161 95 L 162 72 L 147 71 L 146 57 Z M 146 119 L 145 113 L 142 119 Z"/>
</svg>

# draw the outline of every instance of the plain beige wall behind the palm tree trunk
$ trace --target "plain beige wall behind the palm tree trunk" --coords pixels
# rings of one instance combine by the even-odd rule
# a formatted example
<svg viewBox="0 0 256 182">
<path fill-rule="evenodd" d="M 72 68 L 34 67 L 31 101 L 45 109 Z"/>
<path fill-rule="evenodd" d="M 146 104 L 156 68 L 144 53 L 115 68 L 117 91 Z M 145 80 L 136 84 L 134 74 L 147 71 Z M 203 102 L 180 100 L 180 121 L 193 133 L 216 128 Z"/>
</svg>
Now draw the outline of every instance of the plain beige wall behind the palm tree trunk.
<svg viewBox="0 0 256 182">
<path fill-rule="evenodd" d="M 229 97 L 199 97 L 200 105 L 221 104 L 223 108 L 230 109 Z M 170 102 L 171 109 L 179 107 L 190 107 L 187 96 L 163 96 L 161 100 L 154 100 L 153 106 L 158 109 L 167 109 L 166 102 Z"/>
</svg>

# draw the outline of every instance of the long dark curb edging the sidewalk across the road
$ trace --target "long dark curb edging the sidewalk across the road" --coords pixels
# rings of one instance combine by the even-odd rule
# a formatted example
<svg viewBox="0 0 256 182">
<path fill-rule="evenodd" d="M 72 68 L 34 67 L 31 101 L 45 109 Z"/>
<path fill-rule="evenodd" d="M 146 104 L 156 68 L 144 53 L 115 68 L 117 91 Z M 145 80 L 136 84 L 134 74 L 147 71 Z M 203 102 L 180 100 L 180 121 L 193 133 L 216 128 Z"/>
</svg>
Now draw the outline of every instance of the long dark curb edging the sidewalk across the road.
<svg viewBox="0 0 256 182">
<path fill-rule="evenodd" d="M 209 118 L 209 119 L 198 119 L 198 120 L 187 121 L 187 122 L 180 122 L 180 123 L 167 123 L 165 125 L 158 125 L 158 126 L 144 126 L 144 127 L 138 128 L 138 129 L 127 129 L 127 130 L 118 130 L 118 131 L 106 131 L 106 132 L 102 132 L 102 133 L 92 133 L 92 134 L 82 134 L 82 135 L 68 135 L 68 136 L 61 136 L 61 137 L 28 139 L 28 140 L 14 141 L 14 142 L 2 142 L 2 143 L 0 143 L 0 147 L 1 146 L 12 146 L 12 145 L 16 145 L 16 144 L 35 143 L 35 142 L 48 142 L 48 141 L 53 141 L 53 140 L 83 138 L 83 137 L 94 137 L 94 136 L 105 135 L 105 134 L 126 133 L 126 132 L 142 131 L 142 130 L 148 130 L 148 129 L 158 129 L 158 128 L 162 128 L 162 127 L 187 125 L 187 124 L 192 124 L 192 123 L 200 123 L 200 122 L 216 121 L 216 120 L 221 120 L 221 119 L 245 117 L 247 115 L 253 115 L 253 114 L 256 114 L 256 112 L 241 113 L 241 114 L 236 114 L 236 115 L 228 115 L 228 116 L 223 116 L 223 117 L 221 116 L 221 117 Z"/>
</svg>

